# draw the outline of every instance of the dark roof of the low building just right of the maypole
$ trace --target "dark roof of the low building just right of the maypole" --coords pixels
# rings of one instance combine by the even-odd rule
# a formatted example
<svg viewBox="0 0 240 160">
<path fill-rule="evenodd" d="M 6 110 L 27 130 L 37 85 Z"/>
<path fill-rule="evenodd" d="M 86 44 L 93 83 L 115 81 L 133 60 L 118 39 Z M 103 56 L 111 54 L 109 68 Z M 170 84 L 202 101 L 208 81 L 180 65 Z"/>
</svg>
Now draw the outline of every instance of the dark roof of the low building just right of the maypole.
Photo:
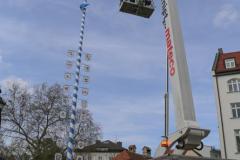
<svg viewBox="0 0 240 160">
<path fill-rule="evenodd" d="M 99 141 L 97 140 L 95 144 L 84 147 L 83 149 L 76 149 L 75 152 L 89 153 L 89 152 L 122 152 L 126 148 L 122 147 L 121 142 L 114 143 L 110 140 Z"/>
</svg>

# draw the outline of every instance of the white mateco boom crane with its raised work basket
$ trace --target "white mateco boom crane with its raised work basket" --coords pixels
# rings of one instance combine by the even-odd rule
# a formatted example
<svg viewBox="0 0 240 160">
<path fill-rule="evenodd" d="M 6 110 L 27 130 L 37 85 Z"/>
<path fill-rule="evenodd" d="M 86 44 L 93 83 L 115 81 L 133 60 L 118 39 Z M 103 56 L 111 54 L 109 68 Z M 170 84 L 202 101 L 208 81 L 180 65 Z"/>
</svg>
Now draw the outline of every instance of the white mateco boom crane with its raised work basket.
<svg viewBox="0 0 240 160">
<path fill-rule="evenodd" d="M 173 147 L 177 150 L 201 150 L 202 140 L 210 133 L 209 129 L 200 128 L 196 121 L 190 78 L 186 60 L 186 53 L 178 17 L 176 0 L 161 0 L 162 24 L 165 29 L 167 50 L 167 79 L 165 95 L 165 136 L 161 146 L 165 147 L 163 154 L 172 153 Z M 120 11 L 150 18 L 155 7 L 153 0 L 120 0 Z M 173 102 L 175 107 L 176 132 L 168 133 L 168 81 L 172 86 Z"/>
</svg>

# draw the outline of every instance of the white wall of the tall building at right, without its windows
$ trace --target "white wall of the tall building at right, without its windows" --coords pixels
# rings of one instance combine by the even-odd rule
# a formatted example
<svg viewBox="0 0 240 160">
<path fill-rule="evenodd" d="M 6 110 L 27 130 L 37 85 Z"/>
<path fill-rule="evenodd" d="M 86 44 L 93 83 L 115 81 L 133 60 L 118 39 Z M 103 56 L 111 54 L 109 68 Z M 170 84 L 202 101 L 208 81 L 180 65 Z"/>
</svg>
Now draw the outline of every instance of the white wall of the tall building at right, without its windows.
<svg viewBox="0 0 240 160">
<path fill-rule="evenodd" d="M 240 129 L 240 119 L 232 119 L 232 109 L 230 103 L 240 102 L 240 92 L 229 93 L 227 81 L 232 78 L 240 78 L 240 74 L 225 75 L 214 77 L 215 95 L 217 102 L 218 112 L 218 125 L 221 142 L 221 154 L 225 158 L 224 145 L 223 145 L 223 133 L 220 116 L 220 106 L 222 108 L 222 123 L 224 127 L 224 135 L 226 142 L 226 152 L 228 159 L 240 159 L 240 153 L 237 154 L 237 145 L 234 134 L 234 129 Z M 217 82 L 216 82 L 217 79 Z M 217 92 L 217 83 L 219 92 Z M 219 95 L 218 95 L 219 93 Z M 218 99 L 219 96 L 219 99 Z M 220 102 L 219 102 L 220 101 Z"/>
</svg>

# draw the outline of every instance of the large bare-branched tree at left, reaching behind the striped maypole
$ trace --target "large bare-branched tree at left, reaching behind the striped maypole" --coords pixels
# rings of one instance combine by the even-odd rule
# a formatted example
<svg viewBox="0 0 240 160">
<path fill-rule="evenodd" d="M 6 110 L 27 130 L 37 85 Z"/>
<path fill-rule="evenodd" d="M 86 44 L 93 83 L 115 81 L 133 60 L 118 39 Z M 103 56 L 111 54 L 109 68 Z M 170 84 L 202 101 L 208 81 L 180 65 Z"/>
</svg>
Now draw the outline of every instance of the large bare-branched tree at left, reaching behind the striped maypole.
<svg viewBox="0 0 240 160">
<path fill-rule="evenodd" d="M 44 83 L 29 88 L 17 82 L 10 83 L 6 87 L 4 98 L 7 101 L 7 107 L 2 113 L 2 133 L 16 143 L 16 150 L 20 149 L 21 153 L 24 152 L 33 159 L 41 160 L 46 158 L 44 157 L 47 152 L 44 147 L 48 144 L 46 142 L 50 144 L 49 150 L 57 151 L 54 145 L 56 146 L 58 140 L 62 140 L 58 146 L 64 149 L 69 118 L 61 117 L 60 113 L 68 115 L 70 105 L 69 98 L 59 84 L 48 86 Z M 90 142 L 99 137 L 101 130 L 93 122 L 92 117 L 89 116 L 89 118 L 90 123 L 87 123 L 87 126 L 91 130 L 87 131 L 92 133 L 88 133 L 91 136 L 87 136 L 84 141 Z M 76 124 L 79 131 L 76 137 L 79 137 L 83 130 L 81 119 L 77 119 Z"/>
</svg>

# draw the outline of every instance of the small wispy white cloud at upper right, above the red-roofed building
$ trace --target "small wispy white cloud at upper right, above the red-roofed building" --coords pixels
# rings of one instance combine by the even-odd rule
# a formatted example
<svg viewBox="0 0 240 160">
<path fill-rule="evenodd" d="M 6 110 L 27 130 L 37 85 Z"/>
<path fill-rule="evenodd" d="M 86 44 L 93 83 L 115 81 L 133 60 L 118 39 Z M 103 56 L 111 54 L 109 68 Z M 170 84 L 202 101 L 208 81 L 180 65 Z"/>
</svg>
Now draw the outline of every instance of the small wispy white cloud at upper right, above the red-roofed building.
<svg viewBox="0 0 240 160">
<path fill-rule="evenodd" d="M 226 28 L 240 20 L 239 9 L 232 4 L 225 4 L 214 18 L 214 25 L 219 28 Z"/>
</svg>

